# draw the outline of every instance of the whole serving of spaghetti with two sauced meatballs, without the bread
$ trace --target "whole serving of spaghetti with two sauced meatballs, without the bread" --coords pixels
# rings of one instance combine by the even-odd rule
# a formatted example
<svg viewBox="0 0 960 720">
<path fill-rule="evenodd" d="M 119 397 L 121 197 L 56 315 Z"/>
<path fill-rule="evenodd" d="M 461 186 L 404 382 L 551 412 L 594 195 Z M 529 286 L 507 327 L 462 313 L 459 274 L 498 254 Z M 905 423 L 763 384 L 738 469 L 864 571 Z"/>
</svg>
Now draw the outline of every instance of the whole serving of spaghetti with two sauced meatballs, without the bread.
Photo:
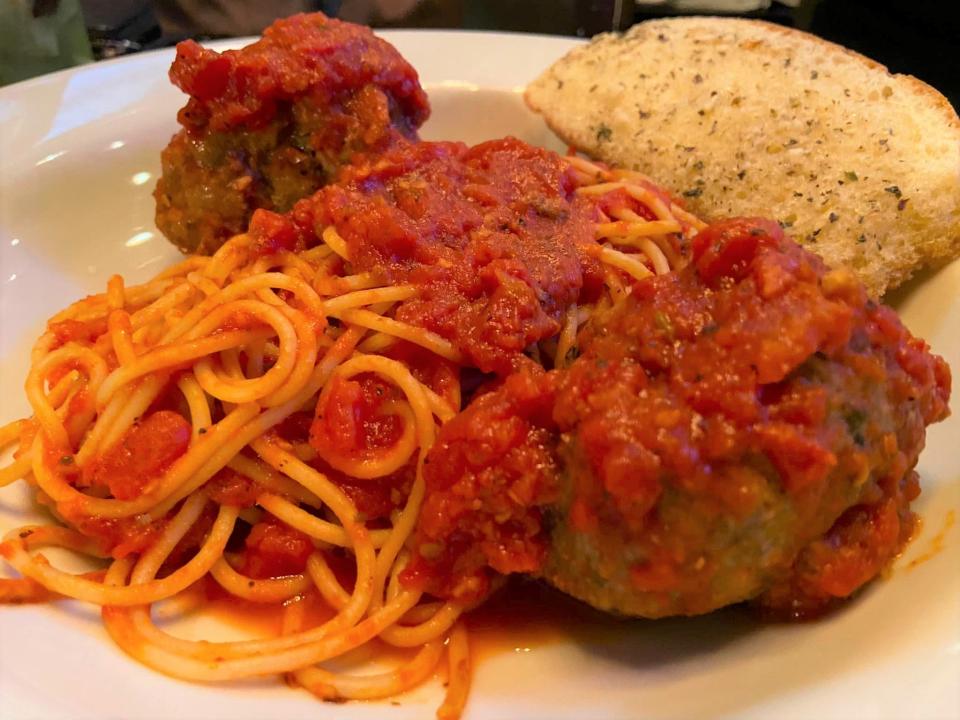
<svg viewBox="0 0 960 720">
<path fill-rule="evenodd" d="M 413 70 L 323 16 L 233 54 L 181 45 L 172 75 L 197 134 L 165 151 L 158 218 L 198 252 L 113 276 L 36 342 L 0 487 L 25 481 L 54 522 L 4 536 L 21 577 L 0 600 L 99 605 L 125 652 L 194 681 L 375 699 L 445 672 L 456 718 L 465 618 L 512 573 L 623 615 L 801 617 L 908 540 L 949 369 L 776 222 L 706 224 L 639 172 L 515 138 L 417 141 Z M 351 134 L 357 94 L 379 98 L 376 138 Z M 313 186 L 279 160 L 302 111 Z M 252 167 L 254 136 L 282 140 L 247 187 L 289 192 L 227 212 L 218 173 Z M 247 159 L 201 168 L 214 146 Z M 155 621 L 217 597 L 282 632 Z"/>
</svg>

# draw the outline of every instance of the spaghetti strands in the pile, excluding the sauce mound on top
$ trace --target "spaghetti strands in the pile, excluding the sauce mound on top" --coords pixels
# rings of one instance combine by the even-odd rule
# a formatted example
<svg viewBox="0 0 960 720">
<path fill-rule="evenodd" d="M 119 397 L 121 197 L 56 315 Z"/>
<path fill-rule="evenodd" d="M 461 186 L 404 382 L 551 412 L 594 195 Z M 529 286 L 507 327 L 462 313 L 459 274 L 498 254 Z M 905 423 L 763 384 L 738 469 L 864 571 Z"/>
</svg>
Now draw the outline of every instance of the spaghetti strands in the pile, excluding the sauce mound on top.
<svg viewBox="0 0 960 720">
<path fill-rule="evenodd" d="M 566 162 L 596 208 L 588 251 L 605 284 L 526 348 L 552 367 L 575 356 L 598 304 L 676 267 L 703 227 L 637 173 Z M 57 523 L 3 538 L 0 555 L 21 577 L 0 581 L 0 600 L 89 602 L 125 652 L 162 673 L 199 682 L 282 674 L 326 700 L 403 693 L 445 656 L 438 715 L 459 717 L 469 606 L 426 597 L 400 574 L 423 465 L 461 409 L 458 370 L 469 360 L 399 312 L 429 288 L 355 266 L 353 255 L 333 225 L 306 249 L 264 252 L 237 235 L 143 285 L 114 276 L 105 293 L 54 316 L 32 352 L 33 415 L 0 428 L 0 445 L 15 449 L 0 486 L 28 483 Z M 314 413 L 309 437 L 289 430 Z M 386 491 L 386 510 L 361 502 L 370 488 Z M 66 572 L 47 547 L 103 569 Z M 156 624 L 202 608 L 212 588 L 284 603 L 283 634 L 195 642 Z M 307 601 L 329 619 L 307 622 Z M 376 674 L 325 665 L 371 643 L 409 656 Z"/>
</svg>

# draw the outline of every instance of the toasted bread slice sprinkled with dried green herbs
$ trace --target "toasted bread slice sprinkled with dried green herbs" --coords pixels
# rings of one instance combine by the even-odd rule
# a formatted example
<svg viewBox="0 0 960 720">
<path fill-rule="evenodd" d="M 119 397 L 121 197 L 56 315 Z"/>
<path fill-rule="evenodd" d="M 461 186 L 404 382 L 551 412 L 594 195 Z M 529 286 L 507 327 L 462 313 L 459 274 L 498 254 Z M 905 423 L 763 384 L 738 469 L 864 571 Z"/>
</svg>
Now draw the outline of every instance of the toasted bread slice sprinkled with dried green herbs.
<svg viewBox="0 0 960 720">
<path fill-rule="evenodd" d="M 960 119 L 933 88 L 796 30 L 640 23 L 526 92 L 564 141 L 705 218 L 760 215 L 879 297 L 960 254 Z"/>
</svg>

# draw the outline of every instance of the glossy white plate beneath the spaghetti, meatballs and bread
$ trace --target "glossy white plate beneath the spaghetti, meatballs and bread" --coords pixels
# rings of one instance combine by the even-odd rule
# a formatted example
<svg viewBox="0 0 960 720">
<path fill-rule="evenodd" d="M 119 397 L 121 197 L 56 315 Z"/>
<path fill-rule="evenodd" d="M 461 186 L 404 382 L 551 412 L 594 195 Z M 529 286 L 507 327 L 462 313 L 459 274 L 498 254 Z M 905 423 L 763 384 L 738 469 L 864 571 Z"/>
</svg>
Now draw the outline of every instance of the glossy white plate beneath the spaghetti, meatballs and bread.
<svg viewBox="0 0 960 720">
<path fill-rule="evenodd" d="M 430 92 L 427 138 L 514 134 L 559 147 L 519 90 L 573 41 L 384 36 Z M 28 348 L 49 315 L 102 291 L 112 273 L 140 281 L 177 257 L 156 232 L 150 195 L 183 103 L 167 81 L 172 58 L 148 53 L 0 90 L 0 422 L 27 412 Z M 960 369 L 960 263 L 898 300 L 914 332 Z M 919 467 L 923 530 L 891 577 L 842 612 L 795 626 L 735 611 L 608 627 L 571 620 L 529 649 L 516 628 L 514 651 L 480 662 L 468 718 L 960 717 L 960 528 L 947 520 L 960 505 L 958 439 L 960 415 L 931 429 Z M 18 488 L 0 492 L 0 529 L 22 522 L 24 500 Z M 191 685 L 128 659 L 87 608 L 0 608 L 3 718 L 425 718 L 439 697 L 430 685 L 400 706 L 324 706 L 273 680 Z"/>
</svg>

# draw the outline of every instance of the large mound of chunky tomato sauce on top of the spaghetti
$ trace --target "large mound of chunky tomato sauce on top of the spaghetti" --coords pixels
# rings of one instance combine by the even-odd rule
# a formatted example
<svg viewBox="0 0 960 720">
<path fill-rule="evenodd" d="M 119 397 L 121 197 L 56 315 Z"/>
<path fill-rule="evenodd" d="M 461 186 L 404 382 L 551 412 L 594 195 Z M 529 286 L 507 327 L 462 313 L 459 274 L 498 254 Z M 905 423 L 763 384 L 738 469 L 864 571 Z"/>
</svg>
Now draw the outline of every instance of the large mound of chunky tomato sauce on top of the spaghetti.
<svg viewBox="0 0 960 720">
<path fill-rule="evenodd" d="M 300 246 L 336 227 L 352 271 L 420 287 L 397 319 L 448 338 L 468 365 L 508 373 L 600 288 L 595 209 L 573 189 L 559 157 L 516 139 L 399 145 L 345 167 L 289 223 Z M 273 220 L 257 227 L 264 245 L 289 236 Z"/>
</svg>

